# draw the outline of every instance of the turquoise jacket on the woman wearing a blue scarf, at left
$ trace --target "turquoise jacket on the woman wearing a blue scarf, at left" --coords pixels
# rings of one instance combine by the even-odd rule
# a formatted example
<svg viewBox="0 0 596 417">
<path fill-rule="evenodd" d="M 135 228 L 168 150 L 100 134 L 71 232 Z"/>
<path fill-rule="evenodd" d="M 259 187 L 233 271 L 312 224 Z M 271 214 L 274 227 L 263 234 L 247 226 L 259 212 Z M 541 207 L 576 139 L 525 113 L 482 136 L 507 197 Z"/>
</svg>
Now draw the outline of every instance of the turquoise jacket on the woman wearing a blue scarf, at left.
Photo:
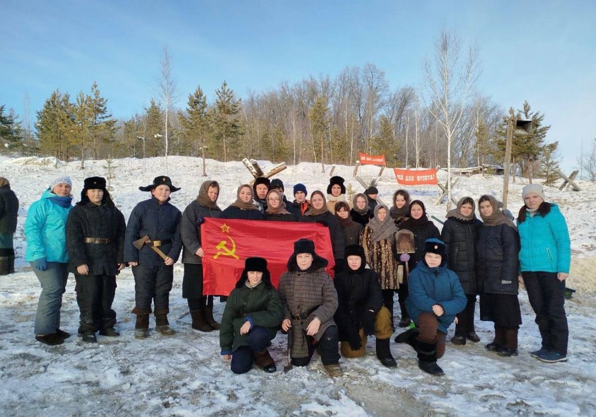
<svg viewBox="0 0 596 417">
<path fill-rule="evenodd" d="M 31 262 L 45 257 L 48 262 L 69 262 L 66 251 L 66 219 L 72 206 L 60 207 L 52 203 L 56 195 L 47 189 L 29 207 L 25 221 L 27 250 L 25 260 Z"/>
</svg>

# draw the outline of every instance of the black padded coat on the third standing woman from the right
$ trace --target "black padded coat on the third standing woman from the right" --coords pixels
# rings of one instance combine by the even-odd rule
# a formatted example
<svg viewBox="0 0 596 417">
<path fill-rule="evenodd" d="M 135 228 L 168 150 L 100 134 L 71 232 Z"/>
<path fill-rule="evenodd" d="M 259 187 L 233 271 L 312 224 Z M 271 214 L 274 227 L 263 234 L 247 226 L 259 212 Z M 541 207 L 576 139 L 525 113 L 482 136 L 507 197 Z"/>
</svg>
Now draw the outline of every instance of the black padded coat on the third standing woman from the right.
<svg viewBox="0 0 596 417">
<path fill-rule="evenodd" d="M 478 294 L 476 286 L 476 242 L 482 222 L 474 217 L 461 220 L 449 217 L 443 225 L 441 240 L 447 249 L 447 267 L 460 277 L 465 294 Z"/>
</svg>

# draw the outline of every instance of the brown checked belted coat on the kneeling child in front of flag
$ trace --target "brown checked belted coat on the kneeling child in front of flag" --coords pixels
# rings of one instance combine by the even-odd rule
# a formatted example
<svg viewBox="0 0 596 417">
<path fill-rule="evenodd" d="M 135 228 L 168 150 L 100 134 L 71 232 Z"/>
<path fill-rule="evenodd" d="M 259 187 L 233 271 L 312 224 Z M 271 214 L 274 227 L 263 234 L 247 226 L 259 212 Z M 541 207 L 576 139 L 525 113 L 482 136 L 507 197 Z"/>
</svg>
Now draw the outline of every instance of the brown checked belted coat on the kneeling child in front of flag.
<svg viewBox="0 0 596 417">
<path fill-rule="evenodd" d="M 306 328 L 315 317 L 321 320 L 319 331 L 313 336 L 316 340 L 321 339 L 329 326 L 336 325 L 333 315 L 337 310 L 337 291 L 323 266 L 318 266 L 313 263 L 308 271 L 288 270 L 280 276 L 278 291 L 284 307 L 284 319 L 292 322 L 288 332 L 291 357 L 308 357 Z M 296 320 L 292 318 L 296 314 L 308 316 Z"/>
</svg>

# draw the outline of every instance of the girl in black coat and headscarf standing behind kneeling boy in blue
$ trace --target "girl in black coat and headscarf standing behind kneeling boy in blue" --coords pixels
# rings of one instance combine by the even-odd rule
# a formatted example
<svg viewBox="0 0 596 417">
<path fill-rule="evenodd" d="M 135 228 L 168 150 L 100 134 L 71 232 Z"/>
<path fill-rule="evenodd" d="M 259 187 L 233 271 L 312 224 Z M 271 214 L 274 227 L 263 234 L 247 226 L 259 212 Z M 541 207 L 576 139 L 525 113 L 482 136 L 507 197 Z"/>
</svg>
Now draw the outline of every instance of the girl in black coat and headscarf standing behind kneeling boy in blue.
<svg viewBox="0 0 596 417">
<path fill-rule="evenodd" d="M 440 239 L 439 229 L 434 223 L 429 220 L 426 214 L 426 207 L 420 200 L 414 200 L 409 205 L 409 219 L 400 223 L 399 230 L 406 229 L 414 234 L 414 254 L 410 255 L 404 253 L 400 256 L 399 261 L 404 266 L 403 284 L 399 286 L 401 291 L 398 291 L 399 307 L 401 309 L 402 318 L 399 321 L 400 327 L 406 327 L 410 323 L 408 310 L 406 309 L 406 298 L 408 298 L 408 274 L 416 267 L 424 257 L 424 242 L 427 239 Z"/>
</svg>

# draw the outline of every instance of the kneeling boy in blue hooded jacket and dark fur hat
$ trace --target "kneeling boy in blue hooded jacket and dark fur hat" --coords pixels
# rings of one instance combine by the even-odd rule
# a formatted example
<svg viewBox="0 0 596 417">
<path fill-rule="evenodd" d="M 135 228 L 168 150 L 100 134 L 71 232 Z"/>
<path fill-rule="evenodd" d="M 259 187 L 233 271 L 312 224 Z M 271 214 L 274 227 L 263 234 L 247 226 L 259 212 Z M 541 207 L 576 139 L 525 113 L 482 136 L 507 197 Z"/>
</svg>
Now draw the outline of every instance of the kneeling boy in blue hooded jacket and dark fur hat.
<svg viewBox="0 0 596 417">
<path fill-rule="evenodd" d="M 445 353 L 447 329 L 467 302 L 460 279 L 446 265 L 445 244 L 427 239 L 423 259 L 408 277 L 406 309 L 416 327 L 395 338 L 414 347 L 420 369 L 437 376 L 445 374 L 437 359 Z"/>
</svg>

